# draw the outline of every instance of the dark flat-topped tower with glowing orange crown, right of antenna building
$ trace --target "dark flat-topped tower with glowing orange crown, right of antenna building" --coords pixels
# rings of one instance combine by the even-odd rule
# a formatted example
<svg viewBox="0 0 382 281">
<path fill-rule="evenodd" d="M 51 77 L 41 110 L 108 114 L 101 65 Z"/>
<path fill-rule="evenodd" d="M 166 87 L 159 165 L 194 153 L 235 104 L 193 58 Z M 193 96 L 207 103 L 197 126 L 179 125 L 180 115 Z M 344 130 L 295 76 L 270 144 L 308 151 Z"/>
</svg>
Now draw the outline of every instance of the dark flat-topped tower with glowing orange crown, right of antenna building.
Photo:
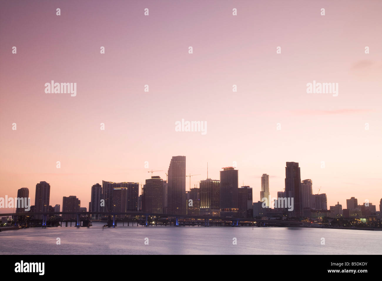
<svg viewBox="0 0 382 281">
<path fill-rule="evenodd" d="M 236 218 L 239 212 L 238 170 L 233 167 L 220 171 L 220 216 Z"/>
</svg>

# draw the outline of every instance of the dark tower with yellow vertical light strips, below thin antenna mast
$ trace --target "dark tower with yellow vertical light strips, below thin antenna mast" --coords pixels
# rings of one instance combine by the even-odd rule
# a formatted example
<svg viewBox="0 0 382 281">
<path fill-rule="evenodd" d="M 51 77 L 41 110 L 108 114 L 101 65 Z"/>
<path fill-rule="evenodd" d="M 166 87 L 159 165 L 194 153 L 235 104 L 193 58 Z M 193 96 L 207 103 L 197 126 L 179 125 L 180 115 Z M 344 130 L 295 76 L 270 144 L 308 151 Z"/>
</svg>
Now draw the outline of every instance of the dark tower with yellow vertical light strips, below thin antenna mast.
<svg viewBox="0 0 382 281">
<path fill-rule="evenodd" d="M 201 180 L 200 214 L 205 216 L 220 215 L 220 180 Z"/>
</svg>

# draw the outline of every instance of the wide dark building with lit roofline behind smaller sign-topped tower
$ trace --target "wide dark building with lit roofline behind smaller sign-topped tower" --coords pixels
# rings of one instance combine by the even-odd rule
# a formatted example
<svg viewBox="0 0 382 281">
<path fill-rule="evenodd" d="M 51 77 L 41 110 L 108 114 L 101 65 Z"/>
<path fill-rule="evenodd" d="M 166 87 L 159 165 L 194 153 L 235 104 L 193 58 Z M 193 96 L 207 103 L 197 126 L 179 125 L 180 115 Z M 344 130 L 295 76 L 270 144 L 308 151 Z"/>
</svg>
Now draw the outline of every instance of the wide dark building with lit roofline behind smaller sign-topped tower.
<svg viewBox="0 0 382 281">
<path fill-rule="evenodd" d="M 118 198 L 114 198 L 115 188 L 127 188 L 126 194 L 126 211 L 137 211 L 138 210 L 138 192 L 139 183 L 138 182 L 107 182 L 102 180 L 102 199 L 105 200 L 105 207 L 103 208 L 106 212 L 111 212 L 114 209 L 113 200 L 117 202 Z M 118 189 L 117 189 L 118 190 Z M 115 196 L 122 196 L 124 192 L 117 192 Z M 120 199 L 124 200 L 124 199 Z"/>
</svg>

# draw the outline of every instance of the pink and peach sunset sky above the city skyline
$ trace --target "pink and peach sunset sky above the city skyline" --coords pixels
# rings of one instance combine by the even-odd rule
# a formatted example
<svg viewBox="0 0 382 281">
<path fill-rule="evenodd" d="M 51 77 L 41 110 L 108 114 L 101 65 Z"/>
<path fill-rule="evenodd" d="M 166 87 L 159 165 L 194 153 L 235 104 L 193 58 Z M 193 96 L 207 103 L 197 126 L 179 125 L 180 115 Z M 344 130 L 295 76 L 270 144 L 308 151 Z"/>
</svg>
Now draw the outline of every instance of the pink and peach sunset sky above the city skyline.
<svg viewBox="0 0 382 281">
<path fill-rule="evenodd" d="M 381 11 L 380 1 L 1 2 L 0 197 L 28 187 L 34 204 L 46 181 L 50 205 L 76 195 L 88 207 L 93 184 L 144 184 L 151 169 L 165 178 L 184 155 L 186 173 L 202 174 L 192 187 L 207 162 L 219 179 L 236 161 L 254 201 L 264 173 L 276 197 L 295 161 L 328 206 L 356 197 L 379 210 Z M 77 83 L 77 96 L 46 94 L 51 80 Z M 313 80 L 338 83 L 338 96 L 307 94 Z M 181 119 L 206 121 L 207 134 L 175 132 Z"/>
</svg>

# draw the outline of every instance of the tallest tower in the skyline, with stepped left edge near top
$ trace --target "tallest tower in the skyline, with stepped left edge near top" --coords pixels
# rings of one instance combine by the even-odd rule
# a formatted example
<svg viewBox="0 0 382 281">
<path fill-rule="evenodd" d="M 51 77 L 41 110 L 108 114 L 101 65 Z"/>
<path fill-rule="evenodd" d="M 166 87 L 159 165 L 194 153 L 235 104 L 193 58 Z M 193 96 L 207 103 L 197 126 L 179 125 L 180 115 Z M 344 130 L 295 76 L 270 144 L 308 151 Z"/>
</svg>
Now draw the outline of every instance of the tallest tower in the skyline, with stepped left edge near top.
<svg viewBox="0 0 382 281">
<path fill-rule="evenodd" d="M 168 167 L 167 208 L 170 214 L 185 214 L 186 156 L 173 156 Z"/>
</svg>

